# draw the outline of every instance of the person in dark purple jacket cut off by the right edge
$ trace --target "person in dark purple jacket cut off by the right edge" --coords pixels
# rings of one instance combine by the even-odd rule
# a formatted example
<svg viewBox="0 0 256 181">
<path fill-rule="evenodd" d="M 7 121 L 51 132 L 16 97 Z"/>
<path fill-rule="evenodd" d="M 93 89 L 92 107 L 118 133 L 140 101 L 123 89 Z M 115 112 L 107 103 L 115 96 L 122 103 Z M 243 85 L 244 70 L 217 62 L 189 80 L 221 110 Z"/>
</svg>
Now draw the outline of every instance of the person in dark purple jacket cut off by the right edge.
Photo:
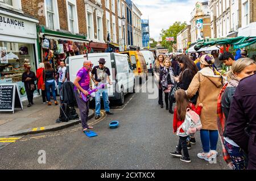
<svg viewBox="0 0 256 181">
<path fill-rule="evenodd" d="M 237 86 L 230 107 L 226 135 L 248 153 L 247 169 L 256 170 L 256 74 Z M 247 124 L 249 129 L 245 131 Z"/>
</svg>

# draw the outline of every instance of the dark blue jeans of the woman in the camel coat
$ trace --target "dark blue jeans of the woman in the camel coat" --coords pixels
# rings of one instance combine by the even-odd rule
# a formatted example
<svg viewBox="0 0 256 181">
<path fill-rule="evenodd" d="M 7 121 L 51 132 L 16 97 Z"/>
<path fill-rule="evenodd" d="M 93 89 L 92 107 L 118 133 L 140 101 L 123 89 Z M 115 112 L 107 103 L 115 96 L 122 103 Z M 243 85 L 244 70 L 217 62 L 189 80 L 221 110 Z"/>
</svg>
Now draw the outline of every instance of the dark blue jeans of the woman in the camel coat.
<svg viewBox="0 0 256 181">
<path fill-rule="evenodd" d="M 201 129 L 200 137 L 201 137 L 204 153 L 209 153 L 210 150 L 217 149 L 217 142 L 218 142 L 217 130 Z"/>
</svg>

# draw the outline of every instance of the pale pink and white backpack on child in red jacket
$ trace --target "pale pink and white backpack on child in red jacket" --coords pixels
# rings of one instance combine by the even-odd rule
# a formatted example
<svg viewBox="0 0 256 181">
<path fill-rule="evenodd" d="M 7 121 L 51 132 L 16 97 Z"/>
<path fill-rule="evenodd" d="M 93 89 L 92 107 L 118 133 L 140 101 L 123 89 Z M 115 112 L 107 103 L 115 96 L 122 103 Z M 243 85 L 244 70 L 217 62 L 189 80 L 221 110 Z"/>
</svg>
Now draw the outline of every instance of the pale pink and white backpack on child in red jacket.
<svg viewBox="0 0 256 181">
<path fill-rule="evenodd" d="M 200 116 L 197 115 L 195 111 L 192 111 L 191 108 L 187 108 L 186 117 L 184 122 L 181 124 L 181 128 L 188 135 L 200 131 L 202 128 Z"/>
</svg>

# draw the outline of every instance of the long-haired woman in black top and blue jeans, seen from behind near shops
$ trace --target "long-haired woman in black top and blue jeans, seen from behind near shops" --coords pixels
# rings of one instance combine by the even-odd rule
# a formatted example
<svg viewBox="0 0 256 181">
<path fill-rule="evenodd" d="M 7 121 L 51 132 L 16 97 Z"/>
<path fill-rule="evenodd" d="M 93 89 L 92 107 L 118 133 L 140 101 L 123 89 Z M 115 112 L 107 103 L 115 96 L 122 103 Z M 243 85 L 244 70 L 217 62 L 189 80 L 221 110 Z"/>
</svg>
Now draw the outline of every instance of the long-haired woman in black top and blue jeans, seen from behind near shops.
<svg viewBox="0 0 256 181">
<path fill-rule="evenodd" d="M 50 94 L 52 91 L 53 99 L 55 105 L 57 105 L 57 99 L 56 99 L 56 93 L 55 93 L 55 76 L 54 76 L 54 70 L 49 62 L 46 62 L 45 64 L 46 68 L 46 95 L 47 95 L 47 101 L 48 101 L 48 106 L 51 106 L 51 98 Z"/>
</svg>

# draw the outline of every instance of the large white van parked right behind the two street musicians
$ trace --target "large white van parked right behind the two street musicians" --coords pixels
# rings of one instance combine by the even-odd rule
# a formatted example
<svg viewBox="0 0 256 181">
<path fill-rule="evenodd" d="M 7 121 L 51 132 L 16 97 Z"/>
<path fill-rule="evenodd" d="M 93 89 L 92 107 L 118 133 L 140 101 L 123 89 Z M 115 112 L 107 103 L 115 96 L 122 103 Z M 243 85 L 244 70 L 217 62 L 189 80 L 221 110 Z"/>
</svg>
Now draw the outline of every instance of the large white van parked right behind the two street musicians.
<svg viewBox="0 0 256 181">
<path fill-rule="evenodd" d="M 73 82 L 77 71 L 82 68 L 85 60 L 90 60 L 93 66 L 98 65 L 100 58 L 105 58 L 105 66 L 110 70 L 110 80 L 113 85 L 108 85 L 108 95 L 110 100 L 117 100 L 119 105 L 125 103 L 125 94 L 135 92 L 135 76 L 130 64 L 129 57 L 120 53 L 89 53 L 84 55 L 68 57 L 66 60 L 69 80 Z M 94 84 L 93 84 L 94 87 Z M 95 93 L 92 94 L 95 97 Z"/>
</svg>

